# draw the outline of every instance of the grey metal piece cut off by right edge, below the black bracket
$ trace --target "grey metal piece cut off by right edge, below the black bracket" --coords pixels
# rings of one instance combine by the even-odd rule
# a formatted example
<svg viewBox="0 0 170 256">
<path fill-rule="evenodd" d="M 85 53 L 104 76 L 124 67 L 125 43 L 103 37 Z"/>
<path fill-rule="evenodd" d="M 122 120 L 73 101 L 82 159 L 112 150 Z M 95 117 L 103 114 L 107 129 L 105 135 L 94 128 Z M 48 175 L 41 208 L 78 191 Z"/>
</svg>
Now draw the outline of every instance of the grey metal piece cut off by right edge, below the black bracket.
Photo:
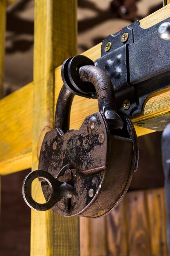
<svg viewBox="0 0 170 256">
<path fill-rule="evenodd" d="M 165 175 L 165 201 L 167 213 L 167 245 L 170 255 L 170 124 L 166 126 L 162 133 L 162 162 Z"/>
</svg>

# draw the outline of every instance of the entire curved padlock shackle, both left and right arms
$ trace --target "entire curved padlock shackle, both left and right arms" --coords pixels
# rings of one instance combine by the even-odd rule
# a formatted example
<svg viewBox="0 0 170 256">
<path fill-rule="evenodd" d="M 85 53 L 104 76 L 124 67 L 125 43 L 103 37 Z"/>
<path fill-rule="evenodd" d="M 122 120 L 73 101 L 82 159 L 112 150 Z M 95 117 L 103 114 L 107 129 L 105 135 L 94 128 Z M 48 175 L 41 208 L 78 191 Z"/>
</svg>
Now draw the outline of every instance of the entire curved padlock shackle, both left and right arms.
<svg viewBox="0 0 170 256">
<path fill-rule="evenodd" d="M 116 121 L 115 129 L 123 128 L 123 121 L 116 112 L 113 85 L 107 74 L 99 67 L 92 65 L 80 67 L 77 73 L 82 81 L 93 83 L 95 86 L 99 112 L 104 114 L 108 121 Z M 62 129 L 64 133 L 69 130 L 71 104 L 74 95 L 63 85 L 58 96 L 55 110 L 55 128 Z"/>
</svg>

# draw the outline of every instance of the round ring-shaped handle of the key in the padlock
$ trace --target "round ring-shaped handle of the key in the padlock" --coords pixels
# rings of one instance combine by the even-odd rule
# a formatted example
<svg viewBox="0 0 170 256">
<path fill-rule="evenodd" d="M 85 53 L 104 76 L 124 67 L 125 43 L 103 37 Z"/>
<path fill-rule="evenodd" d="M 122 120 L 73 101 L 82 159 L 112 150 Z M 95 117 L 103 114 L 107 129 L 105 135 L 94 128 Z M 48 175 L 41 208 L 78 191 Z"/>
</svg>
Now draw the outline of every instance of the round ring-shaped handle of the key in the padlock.
<svg viewBox="0 0 170 256">
<path fill-rule="evenodd" d="M 35 180 L 36 178 L 40 178 L 40 177 L 48 182 L 50 189 L 51 189 L 51 197 L 44 204 L 35 202 L 35 200 L 33 200 L 32 196 L 31 196 L 31 184 L 32 184 L 33 180 Z M 57 183 L 58 182 L 59 181 L 57 181 Z M 23 185 L 22 185 L 22 195 L 23 195 L 23 198 L 24 198 L 26 204 L 28 204 L 29 207 L 31 207 L 32 209 L 34 209 L 36 211 L 46 211 L 46 210 L 51 209 L 54 206 L 54 204 L 58 201 L 58 196 L 56 195 L 57 191 L 56 191 L 55 183 L 56 183 L 55 178 L 53 177 L 53 175 L 51 175 L 47 171 L 37 170 L 37 171 L 33 171 L 33 172 L 29 173 L 25 177 Z M 60 182 L 60 183 L 62 184 L 62 182 Z"/>
</svg>

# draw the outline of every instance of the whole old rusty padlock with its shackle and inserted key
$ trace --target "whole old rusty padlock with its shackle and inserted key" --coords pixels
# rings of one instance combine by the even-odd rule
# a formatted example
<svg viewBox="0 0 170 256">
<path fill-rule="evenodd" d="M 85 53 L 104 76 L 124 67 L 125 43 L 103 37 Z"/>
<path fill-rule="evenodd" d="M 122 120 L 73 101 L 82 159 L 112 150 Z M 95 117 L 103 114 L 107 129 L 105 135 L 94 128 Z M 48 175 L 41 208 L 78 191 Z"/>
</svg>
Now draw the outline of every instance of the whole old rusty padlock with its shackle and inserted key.
<svg viewBox="0 0 170 256">
<path fill-rule="evenodd" d="M 128 190 L 138 164 L 137 137 L 130 119 L 116 112 L 113 85 L 106 73 L 88 58 L 76 57 L 62 67 L 66 72 L 73 63 L 75 79 L 70 68 L 62 75 L 55 129 L 46 133 L 39 170 L 26 176 L 22 193 L 35 210 L 51 208 L 62 216 L 98 218 L 114 209 Z M 89 62 L 91 65 L 86 65 Z M 86 117 L 79 130 L 69 130 L 75 83 L 77 92 L 81 90 L 79 83 L 91 87 L 86 93 L 97 95 L 99 112 Z M 40 178 L 45 204 L 31 197 L 31 182 L 36 177 Z"/>
</svg>

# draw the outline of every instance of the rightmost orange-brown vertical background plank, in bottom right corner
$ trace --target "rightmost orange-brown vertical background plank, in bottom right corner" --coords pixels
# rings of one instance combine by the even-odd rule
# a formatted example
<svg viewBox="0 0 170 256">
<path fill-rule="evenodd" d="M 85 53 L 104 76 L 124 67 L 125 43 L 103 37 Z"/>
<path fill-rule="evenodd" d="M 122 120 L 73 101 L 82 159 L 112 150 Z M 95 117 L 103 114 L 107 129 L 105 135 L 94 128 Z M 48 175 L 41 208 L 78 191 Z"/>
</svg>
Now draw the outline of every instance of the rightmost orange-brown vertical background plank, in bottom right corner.
<svg viewBox="0 0 170 256">
<path fill-rule="evenodd" d="M 152 256 L 168 256 L 166 243 L 166 207 L 164 189 L 147 191 Z"/>
</svg>

